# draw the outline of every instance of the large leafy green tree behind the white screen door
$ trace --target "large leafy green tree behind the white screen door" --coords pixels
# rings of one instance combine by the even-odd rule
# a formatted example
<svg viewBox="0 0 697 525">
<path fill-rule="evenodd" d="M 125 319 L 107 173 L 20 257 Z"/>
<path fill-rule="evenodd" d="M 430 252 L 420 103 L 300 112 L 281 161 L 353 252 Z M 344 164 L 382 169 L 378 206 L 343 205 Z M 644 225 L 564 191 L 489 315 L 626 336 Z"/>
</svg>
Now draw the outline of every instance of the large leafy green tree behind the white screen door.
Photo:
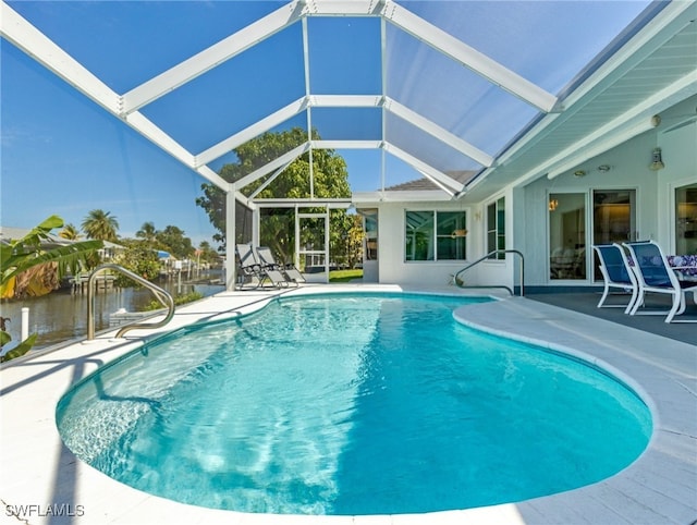
<svg viewBox="0 0 697 525">
<path fill-rule="evenodd" d="M 319 141 L 317 131 L 313 130 L 311 138 Z M 219 174 L 228 182 L 236 182 L 248 173 L 261 168 L 281 155 L 304 144 L 307 132 L 294 127 L 282 132 L 267 132 L 255 137 L 233 150 L 236 162 L 224 164 Z M 311 162 L 311 183 L 310 183 Z M 273 174 L 268 183 L 259 179 L 245 187 L 237 188 L 245 195 L 255 195 L 255 199 L 265 198 L 308 198 L 318 200 L 331 198 L 351 198 L 348 171 L 345 160 L 333 149 L 313 150 L 311 157 L 306 152 L 291 162 L 281 173 Z M 196 204 L 208 213 L 211 224 L 219 233 L 213 239 L 224 246 L 225 243 L 225 194 L 215 184 L 201 185 L 203 196 Z M 305 212 L 322 212 L 323 208 L 308 205 Z M 237 205 L 235 212 L 235 242 L 248 243 L 252 240 L 250 213 Z M 295 216 L 292 208 L 265 208 L 259 221 L 259 244 L 269 246 L 277 260 L 293 262 L 295 255 Z M 321 228 L 307 221 L 301 229 L 301 245 L 323 245 Z M 321 239 L 320 239 L 321 237 Z M 329 251 L 333 262 L 354 267 L 363 261 L 363 224 L 359 216 L 345 209 L 330 210 Z M 231 247 L 228 247 L 231 253 Z M 302 261 L 301 261 L 302 265 Z"/>
</svg>

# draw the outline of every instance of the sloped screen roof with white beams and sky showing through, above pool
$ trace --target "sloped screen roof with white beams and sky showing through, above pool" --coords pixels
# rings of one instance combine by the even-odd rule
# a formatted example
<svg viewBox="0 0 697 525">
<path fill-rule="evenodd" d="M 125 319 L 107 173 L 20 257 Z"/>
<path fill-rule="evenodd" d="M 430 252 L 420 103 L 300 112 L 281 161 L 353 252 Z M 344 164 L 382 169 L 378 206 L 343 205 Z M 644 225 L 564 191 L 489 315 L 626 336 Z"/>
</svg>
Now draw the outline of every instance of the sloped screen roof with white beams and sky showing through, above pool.
<svg viewBox="0 0 697 525">
<path fill-rule="evenodd" d="M 492 164 L 561 111 L 558 95 L 649 2 L 8 4 L 94 74 L 84 93 L 219 185 L 244 142 L 311 127 L 327 142 L 313 147 L 347 160 L 354 192 L 425 175 L 456 195 L 449 173 Z"/>
</svg>

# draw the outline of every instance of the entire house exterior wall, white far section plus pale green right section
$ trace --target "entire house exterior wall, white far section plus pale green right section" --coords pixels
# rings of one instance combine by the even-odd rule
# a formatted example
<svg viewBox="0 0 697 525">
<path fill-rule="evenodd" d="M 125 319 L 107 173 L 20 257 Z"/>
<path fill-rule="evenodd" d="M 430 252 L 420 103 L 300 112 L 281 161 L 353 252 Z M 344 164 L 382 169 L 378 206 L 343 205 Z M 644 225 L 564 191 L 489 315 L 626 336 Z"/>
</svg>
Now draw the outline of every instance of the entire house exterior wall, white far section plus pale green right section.
<svg viewBox="0 0 697 525">
<path fill-rule="evenodd" d="M 525 257 L 526 286 L 594 285 L 592 192 L 634 190 L 636 192 L 635 239 L 656 240 L 664 251 L 675 248 L 675 188 L 697 183 L 697 97 L 661 114 L 661 124 L 649 132 L 594 157 L 567 172 L 549 180 L 512 183 L 504 191 L 479 203 L 405 202 L 371 203 L 379 210 L 379 281 L 400 284 L 445 284 L 452 276 L 486 255 L 487 205 L 505 197 L 506 248 L 518 249 Z M 665 168 L 651 171 L 653 148 L 662 149 Z M 598 170 L 607 164 L 609 171 Z M 576 170 L 585 171 L 575 176 Z M 550 194 L 583 194 L 586 202 L 585 280 L 550 280 Z M 406 210 L 466 210 L 468 222 L 466 261 L 406 261 Z M 464 274 L 466 284 L 519 284 L 518 258 L 486 260 Z"/>
</svg>

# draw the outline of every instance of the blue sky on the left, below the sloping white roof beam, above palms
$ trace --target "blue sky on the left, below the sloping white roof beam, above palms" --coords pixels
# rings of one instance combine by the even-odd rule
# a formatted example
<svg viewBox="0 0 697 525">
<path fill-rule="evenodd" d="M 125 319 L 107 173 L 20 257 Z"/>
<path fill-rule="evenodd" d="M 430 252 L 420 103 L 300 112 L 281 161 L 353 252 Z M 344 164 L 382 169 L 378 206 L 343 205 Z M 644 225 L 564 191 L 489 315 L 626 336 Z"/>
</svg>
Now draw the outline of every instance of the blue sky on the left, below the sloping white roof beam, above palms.
<svg viewBox="0 0 697 525">
<path fill-rule="evenodd" d="M 4 41 L 2 81 L 3 225 L 57 213 L 80 227 L 98 208 L 124 236 L 146 221 L 178 225 L 196 243 L 215 233 L 194 203 L 201 176 Z"/>
</svg>

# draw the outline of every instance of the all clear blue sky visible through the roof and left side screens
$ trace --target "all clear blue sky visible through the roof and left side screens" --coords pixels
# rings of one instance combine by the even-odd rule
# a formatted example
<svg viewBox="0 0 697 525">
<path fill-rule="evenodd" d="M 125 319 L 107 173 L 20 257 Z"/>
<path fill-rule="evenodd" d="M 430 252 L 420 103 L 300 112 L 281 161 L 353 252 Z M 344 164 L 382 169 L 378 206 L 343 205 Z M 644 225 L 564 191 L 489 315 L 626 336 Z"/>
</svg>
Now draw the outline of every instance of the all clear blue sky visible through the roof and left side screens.
<svg viewBox="0 0 697 525">
<path fill-rule="evenodd" d="M 280 2 L 8 2 L 118 93 L 224 38 Z M 631 20 L 645 1 L 403 2 L 407 8 L 559 93 Z M 447 5 L 447 9 L 443 9 Z M 562 16 L 563 15 L 563 16 Z M 377 94 L 379 21 L 310 19 L 310 88 L 318 94 Z M 578 35 L 584 38 L 579 42 Z M 542 38 L 539 38 L 542 36 Z M 463 37 L 464 39 L 464 37 Z M 390 96 L 496 154 L 535 114 L 413 37 L 388 30 Z M 523 48 L 523 44 L 526 48 Z M 554 42 L 554 45 L 551 45 Z M 195 244 L 215 233 L 195 205 L 205 180 L 89 101 L 5 41 L 0 41 L 0 223 L 30 228 L 57 213 L 80 227 L 91 209 L 110 211 L 119 233 L 146 221 L 183 229 Z M 304 95 L 299 24 L 143 109 L 197 154 Z M 461 100 L 453 111 L 444 100 Z M 482 102 L 484 101 L 484 102 Z M 297 119 L 303 122 L 303 118 Z M 473 122 L 477 125 L 473 125 Z M 351 121 L 319 111 L 325 138 L 375 138 L 379 120 Z M 408 126 L 393 139 L 418 151 L 426 142 Z M 348 133 L 352 136 L 343 136 Z M 502 133 L 505 130 L 505 133 Z M 380 154 L 340 151 L 354 191 L 379 185 Z M 427 152 L 424 151 L 424 157 Z M 438 151 L 439 169 L 464 166 Z M 388 158 L 389 182 L 418 174 Z M 431 159 L 428 159 L 431 160 Z M 219 160 L 210 164 L 218 170 Z"/>
</svg>

